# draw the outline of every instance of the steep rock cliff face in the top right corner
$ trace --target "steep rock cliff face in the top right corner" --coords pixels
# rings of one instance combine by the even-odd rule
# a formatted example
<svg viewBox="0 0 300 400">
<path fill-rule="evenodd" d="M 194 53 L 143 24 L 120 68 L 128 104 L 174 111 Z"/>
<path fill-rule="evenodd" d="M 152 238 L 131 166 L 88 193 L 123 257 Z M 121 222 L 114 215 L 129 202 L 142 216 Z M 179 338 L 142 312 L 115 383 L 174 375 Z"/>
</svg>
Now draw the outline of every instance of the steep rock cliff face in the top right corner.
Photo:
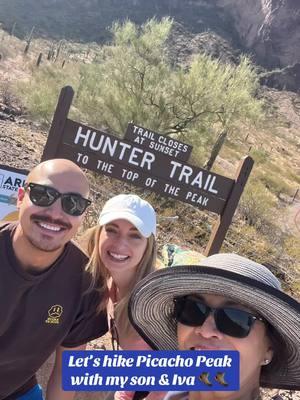
<svg viewBox="0 0 300 400">
<path fill-rule="evenodd" d="M 217 0 L 246 49 L 268 68 L 300 62 L 299 0 Z"/>
</svg>

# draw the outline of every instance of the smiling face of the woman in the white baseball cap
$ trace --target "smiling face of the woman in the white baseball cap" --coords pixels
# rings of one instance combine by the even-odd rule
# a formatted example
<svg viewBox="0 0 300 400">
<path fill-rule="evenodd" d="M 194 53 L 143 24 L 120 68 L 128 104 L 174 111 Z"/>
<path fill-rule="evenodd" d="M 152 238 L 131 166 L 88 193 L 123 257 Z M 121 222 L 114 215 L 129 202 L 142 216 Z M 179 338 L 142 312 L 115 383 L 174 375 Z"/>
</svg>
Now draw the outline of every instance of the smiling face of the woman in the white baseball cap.
<svg viewBox="0 0 300 400">
<path fill-rule="evenodd" d="M 147 239 L 124 219 L 112 221 L 101 229 L 99 255 L 110 274 L 134 273 L 146 247 Z"/>
</svg>

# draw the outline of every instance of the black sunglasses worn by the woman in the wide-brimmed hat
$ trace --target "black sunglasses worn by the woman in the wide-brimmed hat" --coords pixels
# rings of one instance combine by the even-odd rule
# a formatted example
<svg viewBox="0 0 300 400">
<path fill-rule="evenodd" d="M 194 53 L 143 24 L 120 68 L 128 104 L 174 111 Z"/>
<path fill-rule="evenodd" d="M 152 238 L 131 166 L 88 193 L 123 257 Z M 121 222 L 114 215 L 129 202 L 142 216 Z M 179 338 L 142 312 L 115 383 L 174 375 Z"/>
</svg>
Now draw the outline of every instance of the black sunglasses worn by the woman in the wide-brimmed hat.
<svg viewBox="0 0 300 400">
<path fill-rule="evenodd" d="M 248 311 L 231 307 L 212 308 L 195 296 L 174 299 L 174 313 L 178 322 L 187 326 L 201 326 L 212 313 L 215 324 L 221 333 L 235 338 L 245 338 L 256 320 L 264 319 Z"/>
</svg>

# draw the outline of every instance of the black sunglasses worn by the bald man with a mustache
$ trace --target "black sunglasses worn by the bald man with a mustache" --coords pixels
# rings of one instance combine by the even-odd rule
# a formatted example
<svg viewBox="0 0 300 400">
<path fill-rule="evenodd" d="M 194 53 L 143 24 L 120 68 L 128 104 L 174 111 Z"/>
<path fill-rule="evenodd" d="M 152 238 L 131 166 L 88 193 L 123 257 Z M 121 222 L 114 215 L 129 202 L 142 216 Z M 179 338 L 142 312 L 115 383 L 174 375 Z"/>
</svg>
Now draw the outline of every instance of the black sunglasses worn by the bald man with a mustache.
<svg viewBox="0 0 300 400">
<path fill-rule="evenodd" d="M 49 207 L 58 198 L 61 198 L 61 206 L 66 214 L 79 216 L 84 213 L 91 204 L 91 200 L 85 199 L 78 193 L 59 193 L 58 190 L 38 183 L 26 183 L 25 191 L 29 192 L 29 198 L 35 206 Z"/>
</svg>

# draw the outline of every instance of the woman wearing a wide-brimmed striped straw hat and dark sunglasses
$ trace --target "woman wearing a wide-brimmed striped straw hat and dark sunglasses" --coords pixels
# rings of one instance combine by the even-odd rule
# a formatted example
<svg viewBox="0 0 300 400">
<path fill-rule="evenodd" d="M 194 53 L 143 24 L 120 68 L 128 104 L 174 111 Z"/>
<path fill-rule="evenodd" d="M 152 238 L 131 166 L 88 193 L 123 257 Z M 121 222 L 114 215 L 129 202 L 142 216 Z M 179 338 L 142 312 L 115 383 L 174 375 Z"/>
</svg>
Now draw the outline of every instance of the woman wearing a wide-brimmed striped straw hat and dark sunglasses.
<svg viewBox="0 0 300 400">
<path fill-rule="evenodd" d="M 179 398 L 258 399 L 260 387 L 300 390 L 300 304 L 261 264 L 217 254 L 201 265 L 153 272 L 134 289 L 129 319 L 153 349 L 239 351 L 238 392 Z"/>
</svg>

